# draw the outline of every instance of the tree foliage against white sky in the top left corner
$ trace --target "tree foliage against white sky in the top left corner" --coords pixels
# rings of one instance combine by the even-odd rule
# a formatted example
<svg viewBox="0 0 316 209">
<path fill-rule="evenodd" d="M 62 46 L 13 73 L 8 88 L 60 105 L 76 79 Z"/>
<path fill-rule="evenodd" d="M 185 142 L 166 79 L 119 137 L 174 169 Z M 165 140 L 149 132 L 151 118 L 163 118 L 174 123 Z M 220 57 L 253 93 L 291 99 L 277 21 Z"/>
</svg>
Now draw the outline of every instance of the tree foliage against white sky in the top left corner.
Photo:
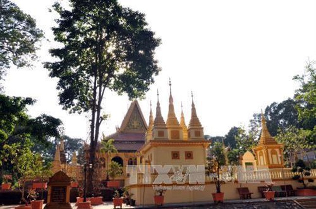
<svg viewBox="0 0 316 209">
<path fill-rule="evenodd" d="M 10 0 L 0 0 L 0 79 L 10 64 L 30 66 L 42 37 L 35 19 Z"/>
</svg>

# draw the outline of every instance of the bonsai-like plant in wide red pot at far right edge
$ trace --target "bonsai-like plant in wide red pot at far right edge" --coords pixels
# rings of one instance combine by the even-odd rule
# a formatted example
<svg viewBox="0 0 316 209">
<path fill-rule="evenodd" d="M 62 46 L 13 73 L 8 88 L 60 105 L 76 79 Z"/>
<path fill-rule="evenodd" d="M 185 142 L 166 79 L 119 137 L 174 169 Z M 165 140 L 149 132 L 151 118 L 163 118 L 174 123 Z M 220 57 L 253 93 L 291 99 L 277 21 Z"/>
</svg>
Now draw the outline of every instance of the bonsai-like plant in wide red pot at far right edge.
<svg viewBox="0 0 316 209">
<path fill-rule="evenodd" d="M 303 184 L 302 188 L 297 188 L 296 195 L 298 196 L 314 196 L 316 195 L 316 190 L 313 188 L 308 188 L 307 185 L 311 182 L 314 182 L 314 179 L 307 178 L 307 176 L 311 175 L 311 168 L 307 167 L 303 160 L 299 159 L 293 169 L 292 172 L 295 173 L 293 176 L 294 180 L 298 180 L 299 183 Z M 307 183 L 306 183 L 307 180 Z"/>
</svg>

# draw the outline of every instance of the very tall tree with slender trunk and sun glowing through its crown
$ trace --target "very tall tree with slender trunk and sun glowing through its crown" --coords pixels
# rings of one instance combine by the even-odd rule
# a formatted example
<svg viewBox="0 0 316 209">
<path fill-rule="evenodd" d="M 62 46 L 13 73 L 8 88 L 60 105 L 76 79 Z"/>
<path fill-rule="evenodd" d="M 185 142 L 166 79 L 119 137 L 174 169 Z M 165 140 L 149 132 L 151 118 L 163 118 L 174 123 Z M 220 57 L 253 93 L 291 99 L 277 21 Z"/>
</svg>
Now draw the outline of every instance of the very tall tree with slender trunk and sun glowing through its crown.
<svg viewBox="0 0 316 209">
<path fill-rule="evenodd" d="M 59 103 L 70 112 L 89 112 L 90 163 L 95 160 L 100 124 L 105 120 L 105 89 L 130 98 L 142 97 L 159 72 L 154 37 L 144 14 L 123 8 L 117 0 L 69 0 L 70 10 L 53 5 L 60 15 L 53 28 L 61 48 L 51 49 L 56 62 L 46 63 L 59 78 Z M 92 191 L 93 167 L 88 174 Z"/>
</svg>

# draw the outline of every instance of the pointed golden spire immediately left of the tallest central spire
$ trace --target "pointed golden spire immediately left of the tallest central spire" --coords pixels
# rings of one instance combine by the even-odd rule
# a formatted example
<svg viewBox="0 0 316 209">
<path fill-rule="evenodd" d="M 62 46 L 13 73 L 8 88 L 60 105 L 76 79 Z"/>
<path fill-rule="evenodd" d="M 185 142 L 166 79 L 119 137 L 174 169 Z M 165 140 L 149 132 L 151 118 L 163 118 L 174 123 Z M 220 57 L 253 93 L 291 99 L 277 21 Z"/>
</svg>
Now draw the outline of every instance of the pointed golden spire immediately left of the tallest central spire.
<svg viewBox="0 0 316 209">
<path fill-rule="evenodd" d="M 160 103 L 159 103 L 159 91 L 157 90 L 157 107 L 156 107 L 156 118 L 152 128 L 153 139 L 168 139 L 168 130 L 166 123 L 162 118 Z"/>
</svg>

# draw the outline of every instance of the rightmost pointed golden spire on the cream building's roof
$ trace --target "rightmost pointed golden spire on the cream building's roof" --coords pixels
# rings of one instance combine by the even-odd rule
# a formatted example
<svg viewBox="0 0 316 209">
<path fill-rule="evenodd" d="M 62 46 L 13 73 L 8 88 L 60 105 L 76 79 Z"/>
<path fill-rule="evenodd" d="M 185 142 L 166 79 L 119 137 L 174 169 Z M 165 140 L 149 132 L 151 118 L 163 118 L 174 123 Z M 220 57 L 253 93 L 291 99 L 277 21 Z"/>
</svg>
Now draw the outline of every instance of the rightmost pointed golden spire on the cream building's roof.
<svg viewBox="0 0 316 209">
<path fill-rule="evenodd" d="M 191 108 L 191 120 L 188 127 L 188 139 L 189 140 L 205 140 L 203 127 L 200 123 L 200 120 L 198 119 L 196 115 L 196 109 L 193 102 L 193 92 L 191 92 L 191 97 L 192 97 L 192 108 Z"/>
</svg>

